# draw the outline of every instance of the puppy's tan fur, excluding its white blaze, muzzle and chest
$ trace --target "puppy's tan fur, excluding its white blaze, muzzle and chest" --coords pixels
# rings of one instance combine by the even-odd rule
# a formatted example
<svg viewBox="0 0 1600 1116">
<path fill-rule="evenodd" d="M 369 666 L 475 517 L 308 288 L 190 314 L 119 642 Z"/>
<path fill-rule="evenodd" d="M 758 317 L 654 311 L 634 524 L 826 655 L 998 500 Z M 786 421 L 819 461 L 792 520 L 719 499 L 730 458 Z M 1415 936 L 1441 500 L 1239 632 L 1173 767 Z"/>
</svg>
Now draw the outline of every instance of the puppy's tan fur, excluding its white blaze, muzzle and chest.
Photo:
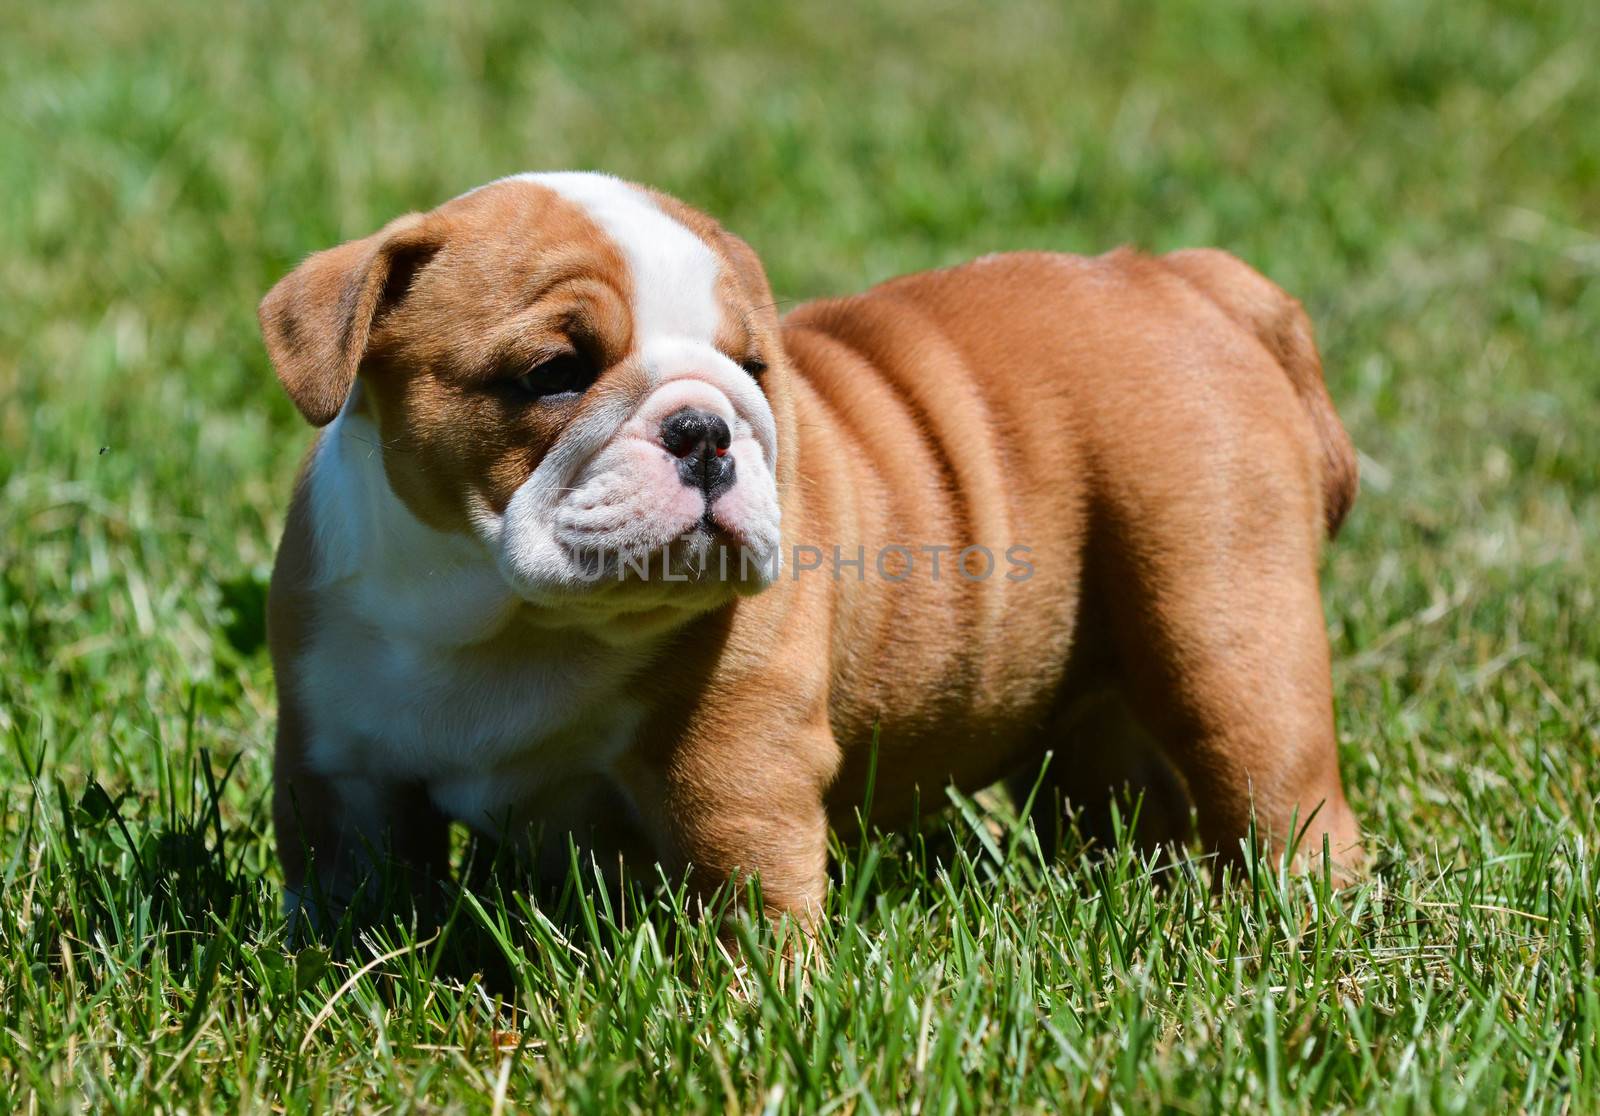
<svg viewBox="0 0 1600 1116">
<path fill-rule="evenodd" d="M 1136 711 L 1211 847 L 1237 855 L 1251 809 L 1275 843 L 1315 811 L 1307 847 L 1326 833 L 1341 870 L 1360 863 L 1317 587 L 1355 467 L 1298 304 L 1214 251 L 1021 253 L 813 302 L 779 326 L 749 246 L 662 205 L 725 262 L 720 345 L 770 365 L 786 542 L 864 547 L 869 563 L 861 580 L 786 572 L 690 620 L 638 672 L 648 716 L 616 777 L 669 868 L 693 865 L 707 886 L 758 873 L 770 903 L 803 915 L 822 897 L 827 827 L 854 825 L 874 735 L 874 817 L 893 822 L 918 798 L 938 806 L 949 782 L 1037 771 L 1050 748 L 1062 769 L 1115 772 L 1115 756 L 1074 756 L 1109 745 L 1070 727 L 1093 694 Z M 429 261 L 386 289 L 371 269 L 394 256 L 387 238 L 424 230 Z M 594 392 L 629 374 L 626 269 L 552 197 L 485 190 L 334 251 L 342 278 L 317 256 L 267 297 L 269 349 L 325 420 L 366 331 L 349 321 L 371 315 L 357 363 L 387 472 L 442 529 L 474 502 L 504 507 L 570 420 L 486 401 L 485 377 L 574 334 L 606 363 Z M 322 318 L 304 309 L 330 302 Z M 299 849 L 320 855 L 338 828 L 299 763 L 307 531 L 298 500 L 270 616 L 291 886 Z M 896 544 L 997 558 L 1022 545 L 1032 576 L 965 580 L 946 552 L 941 580 L 890 582 L 872 555 Z M 512 617 L 488 652 L 517 654 L 534 619 Z M 435 857 L 434 835 L 426 823 L 411 855 Z"/>
</svg>

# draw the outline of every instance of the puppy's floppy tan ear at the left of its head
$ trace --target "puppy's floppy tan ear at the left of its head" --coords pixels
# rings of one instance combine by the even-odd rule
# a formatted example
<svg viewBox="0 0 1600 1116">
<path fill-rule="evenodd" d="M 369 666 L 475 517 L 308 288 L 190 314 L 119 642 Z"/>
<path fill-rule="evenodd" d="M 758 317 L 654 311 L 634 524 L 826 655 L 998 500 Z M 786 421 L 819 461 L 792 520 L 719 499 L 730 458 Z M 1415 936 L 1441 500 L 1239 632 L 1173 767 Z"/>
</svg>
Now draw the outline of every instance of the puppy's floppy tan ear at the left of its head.
<svg viewBox="0 0 1600 1116">
<path fill-rule="evenodd" d="M 392 310 L 442 237 L 411 213 L 371 237 L 306 259 L 261 301 L 261 337 L 294 406 L 315 427 L 344 406 L 373 325 Z"/>
</svg>

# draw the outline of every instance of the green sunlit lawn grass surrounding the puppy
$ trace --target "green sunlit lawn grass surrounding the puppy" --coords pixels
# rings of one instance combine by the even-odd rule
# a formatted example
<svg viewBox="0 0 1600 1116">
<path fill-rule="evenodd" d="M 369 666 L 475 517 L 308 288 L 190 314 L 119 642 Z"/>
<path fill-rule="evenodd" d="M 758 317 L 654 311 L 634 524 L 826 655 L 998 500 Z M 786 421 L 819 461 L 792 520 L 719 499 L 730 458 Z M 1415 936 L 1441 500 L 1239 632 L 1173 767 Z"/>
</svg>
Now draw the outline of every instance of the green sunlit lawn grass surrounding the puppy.
<svg viewBox="0 0 1600 1116">
<path fill-rule="evenodd" d="M 1600 1108 L 1600 8 L 1099 8 L 6 13 L 0 1108 Z M 1363 451 L 1325 600 L 1371 879 L 1214 891 L 958 801 L 840 849 L 798 972 L 574 881 L 288 947 L 261 604 L 307 430 L 254 302 L 563 166 L 786 297 L 1123 241 L 1298 293 Z"/>
</svg>

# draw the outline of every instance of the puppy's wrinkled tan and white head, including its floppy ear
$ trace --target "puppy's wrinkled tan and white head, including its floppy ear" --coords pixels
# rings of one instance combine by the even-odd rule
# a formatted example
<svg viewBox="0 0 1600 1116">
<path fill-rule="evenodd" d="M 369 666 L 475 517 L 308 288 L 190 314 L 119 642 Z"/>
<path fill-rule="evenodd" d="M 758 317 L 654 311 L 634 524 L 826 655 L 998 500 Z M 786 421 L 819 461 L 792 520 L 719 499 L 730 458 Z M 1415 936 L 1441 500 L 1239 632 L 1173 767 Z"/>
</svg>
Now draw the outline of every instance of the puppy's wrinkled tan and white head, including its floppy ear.
<svg viewBox="0 0 1600 1116">
<path fill-rule="evenodd" d="M 755 253 L 602 174 L 526 174 L 318 253 L 261 304 L 315 425 L 538 604 L 715 606 L 778 569 L 787 374 Z"/>
</svg>

